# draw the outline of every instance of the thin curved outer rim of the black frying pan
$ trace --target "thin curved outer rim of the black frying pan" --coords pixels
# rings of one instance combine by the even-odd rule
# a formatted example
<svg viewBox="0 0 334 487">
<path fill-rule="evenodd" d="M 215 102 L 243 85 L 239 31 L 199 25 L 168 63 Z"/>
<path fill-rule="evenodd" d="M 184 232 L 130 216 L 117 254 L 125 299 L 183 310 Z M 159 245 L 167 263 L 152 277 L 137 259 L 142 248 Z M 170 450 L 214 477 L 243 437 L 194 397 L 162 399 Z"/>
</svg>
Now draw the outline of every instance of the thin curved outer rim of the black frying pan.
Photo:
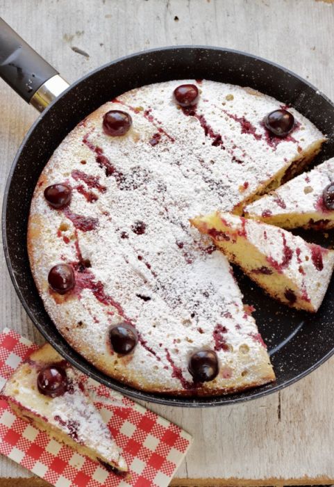
<svg viewBox="0 0 334 487">
<path fill-rule="evenodd" d="M 112 383 L 112 385 L 110 385 L 110 378 L 108 378 L 108 376 L 106 376 L 106 374 L 103 374 L 103 372 L 100 372 L 92 364 L 89 364 L 89 362 L 87 362 L 87 364 L 90 367 L 94 367 L 94 370 L 96 370 L 96 372 L 94 372 L 94 370 L 93 371 L 91 371 L 91 370 L 87 371 L 87 368 L 85 368 L 85 363 L 81 363 L 80 360 L 76 360 L 76 358 L 72 358 L 71 356 L 69 356 L 69 354 L 62 349 L 61 344 L 58 344 L 58 342 L 56 342 L 51 337 L 49 337 L 47 330 L 45 330 L 44 326 L 42 326 L 42 324 L 40 324 L 38 319 L 35 318 L 33 311 L 29 307 L 28 303 L 26 302 L 26 299 L 24 298 L 24 296 L 22 294 L 21 287 L 18 285 L 17 280 L 15 278 L 15 273 L 14 273 L 14 270 L 12 268 L 12 263 L 10 261 L 10 255 L 8 252 L 6 214 L 8 212 L 8 195 L 10 192 L 10 186 L 12 184 L 12 177 L 13 177 L 13 174 L 15 173 L 17 163 L 19 162 L 19 158 L 21 157 L 21 154 L 22 154 L 22 151 L 24 150 L 24 147 L 28 143 L 29 138 L 31 138 L 31 135 L 35 131 L 37 125 L 42 123 L 44 115 L 46 113 L 48 113 L 49 111 L 51 111 L 53 109 L 53 107 L 57 104 L 57 102 L 63 96 L 67 95 L 67 93 L 69 93 L 71 90 L 76 88 L 76 86 L 78 86 L 79 83 L 86 81 L 87 79 L 94 76 L 94 74 L 97 74 L 101 70 L 104 70 L 104 69 L 106 69 L 112 65 L 116 65 L 117 63 L 120 63 L 122 61 L 126 61 L 126 60 L 131 59 L 131 58 L 137 58 L 137 57 L 140 57 L 140 56 L 143 56 L 146 54 L 156 53 L 159 51 L 180 51 L 183 49 L 203 49 L 206 51 L 208 51 L 208 50 L 217 51 L 217 52 L 220 51 L 222 53 L 227 52 L 227 53 L 231 53 L 231 54 L 246 56 L 247 58 L 250 58 L 251 60 L 260 61 L 262 63 L 269 65 L 269 66 L 274 66 L 274 67 L 278 68 L 278 70 L 281 70 L 282 72 L 285 72 L 286 74 L 289 74 L 294 79 L 301 81 L 304 85 L 308 86 L 308 88 L 311 88 L 311 90 L 313 90 L 317 95 L 319 95 L 320 97 L 325 99 L 326 102 L 331 104 L 333 106 L 333 109 L 334 109 L 334 104 L 331 101 L 331 99 L 329 99 L 326 95 L 324 95 L 324 93 L 322 93 L 322 91 L 320 91 L 318 88 L 316 88 L 312 83 L 310 83 L 306 79 L 303 79 L 302 77 L 300 77 L 299 74 L 292 72 L 292 70 L 289 70 L 286 67 L 279 65 L 278 63 L 274 63 L 274 62 L 269 61 L 269 60 L 262 58 L 260 56 L 256 56 L 254 54 L 249 54 L 245 51 L 239 51 L 236 49 L 228 49 L 225 47 L 205 46 L 205 45 L 167 46 L 167 47 L 158 47 L 158 48 L 153 48 L 153 49 L 147 49 L 144 51 L 138 51 L 138 52 L 135 52 L 133 54 L 129 54 L 127 56 L 122 56 L 120 58 L 117 58 L 114 61 L 110 61 L 108 63 L 105 63 L 105 64 L 97 67 L 96 69 L 84 74 L 78 80 L 74 81 L 74 83 L 70 84 L 66 90 L 64 90 L 56 99 L 54 99 L 53 102 L 51 102 L 51 104 L 49 104 L 49 106 L 47 106 L 47 108 L 42 113 L 40 113 L 40 115 L 36 118 L 35 122 L 33 122 L 33 125 L 31 126 L 31 128 L 28 130 L 28 132 L 24 136 L 22 143 L 19 145 L 17 153 L 15 154 L 15 158 L 12 161 L 12 165 L 10 166 L 10 171 L 9 171 L 8 177 L 6 179 L 6 186 L 5 186 L 5 190 L 3 193 L 3 209 L 2 209 L 2 218 L 1 218 L 1 230 L 2 230 L 2 237 L 3 237 L 3 251 L 4 251 L 4 255 L 5 255 L 5 259 L 6 259 L 6 265 L 8 268 L 8 272 L 10 274 L 10 279 L 12 280 L 12 284 L 15 288 L 15 292 L 16 292 L 17 296 L 19 297 L 19 301 L 21 301 L 21 303 L 24 307 L 24 310 L 26 310 L 28 317 L 31 319 L 31 321 L 33 321 L 33 324 L 35 325 L 37 330 L 40 331 L 40 333 L 45 338 L 45 340 L 47 340 L 47 342 L 49 342 L 56 349 L 56 351 L 58 351 L 58 353 L 60 353 L 60 355 L 64 356 L 67 360 L 69 360 L 69 362 L 71 362 L 72 365 L 74 365 L 74 367 L 80 369 L 81 372 L 88 374 L 89 376 L 94 378 L 96 381 L 99 381 L 100 383 L 103 383 L 104 385 L 107 385 L 108 387 L 110 387 L 114 390 L 117 390 L 117 392 L 121 392 L 122 394 L 125 394 L 126 396 L 130 396 L 130 397 L 133 397 L 135 399 L 140 399 L 143 401 L 153 402 L 155 404 L 164 404 L 166 406 L 182 406 L 182 407 L 189 407 L 189 408 L 210 407 L 210 406 L 227 406 L 227 405 L 231 405 L 231 404 L 240 404 L 242 402 L 250 401 L 253 399 L 258 399 L 260 397 L 265 397 L 265 396 L 272 394 L 274 392 L 278 392 L 279 390 L 282 390 L 283 388 L 286 388 L 289 385 L 292 385 L 293 383 L 299 381 L 301 378 L 303 378 L 303 377 L 307 376 L 308 374 L 310 374 L 311 372 L 313 372 L 315 369 L 317 369 L 317 367 L 319 367 L 324 362 L 326 362 L 326 360 L 328 360 L 328 358 L 331 358 L 331 356 L 333 356 L 333 354 L 334 354 L 334 347 L 333 347 L 333 349 L 331 349 L 331 351 L 326 353 L 325 356 L 323 356 L 321 359 L 317 360 L 317 362 L 315 362 L 310 367 L 308 367 L 308 369 L 301 372 L 301 374 L 294 376 L 293 378 L 290 378 L 289 380 L 285 381 L 284 383 L 282 383 L 280 385 L 275 385 L 275 383 L 272 383 L 272 385 L 268 385 L 268 388 L 265 390 L 253 389 L 253 390 L 251 390 L 251 394 L 247 395 L 246 397 L 242 397 L 242 396 L 238 397 L 235 394 L 233 394 L 233 395 L 220 395 L 220 396 L 216 396 L 216 397 L 213 396 L 213 397 L 207 397 L 207 398 L 206 397 L 189 397 L 189 398 L 187 398 L 187 397 L 178 397 L 178 396 L 172 396 L 172 395 L 169 397 L 167 394 L 160 395 L 160 394 L 154 394 L 151 392 L 144 392 L 144 391 L 136 390 L 135 388 L 131 388 L 130 386 L 124 385 L 124 384 L 119 383 L 117 381 L 115 381 L 115 383 Z M 80 355 L 78 353 L 76 353 L 76 355 L 80 359 Z M 81 360 L 86 362 L 86 360 L 84 358 L 82 358 Z M 103 378 L 103 376 L 105 376 L 106 378 Z M 112 379 L 112 378 L 111 378 L 111 380 L 114 381 L 114 379 Z"/>
</svg>

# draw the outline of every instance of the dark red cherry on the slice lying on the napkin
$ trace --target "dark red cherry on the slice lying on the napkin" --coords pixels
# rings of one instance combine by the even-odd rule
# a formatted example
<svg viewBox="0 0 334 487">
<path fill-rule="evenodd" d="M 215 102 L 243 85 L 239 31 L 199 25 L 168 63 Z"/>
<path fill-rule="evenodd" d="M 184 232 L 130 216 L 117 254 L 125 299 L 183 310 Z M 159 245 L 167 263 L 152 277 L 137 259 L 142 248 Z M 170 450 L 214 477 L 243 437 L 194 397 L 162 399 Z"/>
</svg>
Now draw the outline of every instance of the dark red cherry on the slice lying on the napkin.
<svg viewBox="0 0 334 487">
<path fill-rule="evenodd" d="M 49 365 L 37 376 L 37 388 L 44 396 L 62 396 L 67 391 L 67 384 L 66 371 L 59 365 Z"/>
</svg>

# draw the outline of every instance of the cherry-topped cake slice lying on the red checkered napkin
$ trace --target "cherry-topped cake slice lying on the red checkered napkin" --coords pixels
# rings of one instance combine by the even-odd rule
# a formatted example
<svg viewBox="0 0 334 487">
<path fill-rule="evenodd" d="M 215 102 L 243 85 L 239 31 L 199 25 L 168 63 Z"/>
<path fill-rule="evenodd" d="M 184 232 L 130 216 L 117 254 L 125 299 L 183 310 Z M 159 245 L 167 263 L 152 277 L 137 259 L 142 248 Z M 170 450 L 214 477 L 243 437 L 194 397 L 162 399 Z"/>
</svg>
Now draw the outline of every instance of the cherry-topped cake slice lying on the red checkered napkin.
<svg viewBox="0 0 334 487">
<path fill-rule="evenodd" d="M 76 371 L 49 344 L 17 368 L 1 397 L 22 420 L 101 463 L 106 470 L 128 470 Z"/>
</svg>

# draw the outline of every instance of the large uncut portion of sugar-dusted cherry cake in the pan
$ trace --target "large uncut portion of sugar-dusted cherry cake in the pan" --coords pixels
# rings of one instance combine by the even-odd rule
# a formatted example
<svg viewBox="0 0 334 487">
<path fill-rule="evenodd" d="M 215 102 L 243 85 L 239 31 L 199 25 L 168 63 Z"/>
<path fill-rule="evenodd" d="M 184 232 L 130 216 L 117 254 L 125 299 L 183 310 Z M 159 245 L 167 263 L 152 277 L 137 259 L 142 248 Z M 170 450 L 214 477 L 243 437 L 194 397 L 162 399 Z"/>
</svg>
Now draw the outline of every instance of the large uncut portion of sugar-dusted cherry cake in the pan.
<svg viewBox="0 0 334 487">
<path fill-rule="evenodd" d="M 240 214 L 324 141 L 276 99 L 206 80 L 137 88 L 87 116 L 44 168 L 28 223 L 33 276 L 60 333 L 141 390 L 274 381 L 228 260 L 189 218 Z"/>
</svg>

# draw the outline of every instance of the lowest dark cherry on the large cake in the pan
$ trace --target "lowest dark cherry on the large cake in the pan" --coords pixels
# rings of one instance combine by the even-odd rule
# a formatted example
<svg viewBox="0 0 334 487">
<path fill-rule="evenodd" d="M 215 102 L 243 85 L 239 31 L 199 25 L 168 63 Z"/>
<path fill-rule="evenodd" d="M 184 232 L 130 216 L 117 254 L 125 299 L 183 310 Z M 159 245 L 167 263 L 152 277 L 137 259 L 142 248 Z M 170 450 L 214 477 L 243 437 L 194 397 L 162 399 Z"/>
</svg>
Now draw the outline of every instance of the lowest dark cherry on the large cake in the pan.
<svg viewBox="0 0 334 487">
<path fill-rule="evenodd" d="M 219 372 L 217 353 L 212 350 L 199 350 L 192 354 L 188 370 L 194 382 L 208 382 Z"/>
</svg>

